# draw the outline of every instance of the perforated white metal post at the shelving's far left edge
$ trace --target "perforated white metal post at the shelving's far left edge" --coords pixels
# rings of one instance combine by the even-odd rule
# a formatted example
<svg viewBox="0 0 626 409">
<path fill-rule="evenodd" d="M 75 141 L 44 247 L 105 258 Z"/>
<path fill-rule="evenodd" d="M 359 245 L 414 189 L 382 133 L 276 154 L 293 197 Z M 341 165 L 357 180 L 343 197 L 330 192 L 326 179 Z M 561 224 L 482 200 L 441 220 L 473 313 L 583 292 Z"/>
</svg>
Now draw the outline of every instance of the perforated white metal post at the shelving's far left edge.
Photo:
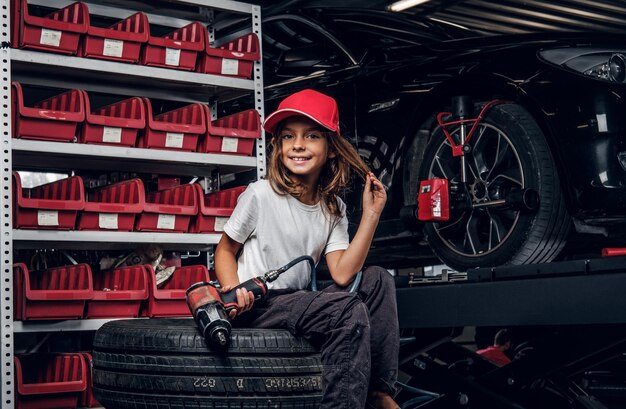
<svg viewBox="0 0 626 409">
<path fill-rule="evenodd" d="M 2 255 L 2 296 L 0 298 L 0 309 L 2 310 L 2 357 L 0 363 L 2 365 L 0 379 L 2 379 L 2 400 L 0 406 L 3 408 L 13 408 L 15 400 L 15 390 L 13 384 L 13 233 L 12 233 L 12 191 L 11 191 L 11 51 L 9 44 L 10 35 L 10 4 L 9 0 L 1 0 L 2 6 L 0 14 L 0 22 L 2 30 L 0 32 L 1 48 L 0 54 L 2 61 L 2 77 L 0 77 L 2 86 L 2 104 L 0 105 L 0 118 L 2 118 L 2 173 L 0 177 L 0 192 L 2 192 L 2 211 L 0 220 L 2 227 L 0 232 L 2 240 L 0 241 L 0 251 Z"/>
</svg>

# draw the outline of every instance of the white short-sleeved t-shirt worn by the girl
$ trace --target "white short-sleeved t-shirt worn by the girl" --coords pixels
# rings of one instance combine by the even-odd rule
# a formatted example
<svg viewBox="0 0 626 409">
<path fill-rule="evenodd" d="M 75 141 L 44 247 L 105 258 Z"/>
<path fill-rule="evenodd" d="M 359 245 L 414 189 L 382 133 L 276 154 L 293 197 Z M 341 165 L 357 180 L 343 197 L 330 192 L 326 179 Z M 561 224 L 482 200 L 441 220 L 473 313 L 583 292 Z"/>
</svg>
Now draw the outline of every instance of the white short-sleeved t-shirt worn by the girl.
<svg viewBox="0 0 626 409">
<path fill-rule="evenodd" d="M 337 198 L 342 217 L 331 216 L 321 203 L 306 205 L 291 195 L 279 195 L 267 180 L 248 186 L 239 196 L 224 232 L 243 243 L 237 260 L 240 282 L 309 255 L 348 248 L 346 205 Z M 302 261 L 281 274 L 269 288 L 301 290 L 311 281 L 309 263 Z"/>
</svg>

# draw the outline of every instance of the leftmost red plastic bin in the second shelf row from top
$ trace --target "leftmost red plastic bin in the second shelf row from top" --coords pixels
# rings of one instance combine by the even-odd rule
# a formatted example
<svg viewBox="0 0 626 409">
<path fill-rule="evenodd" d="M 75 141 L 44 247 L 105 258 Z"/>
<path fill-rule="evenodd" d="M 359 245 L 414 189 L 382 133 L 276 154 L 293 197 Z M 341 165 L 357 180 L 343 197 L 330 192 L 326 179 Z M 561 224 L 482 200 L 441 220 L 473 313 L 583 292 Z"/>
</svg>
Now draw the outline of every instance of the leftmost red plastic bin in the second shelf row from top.
<svg viewBox="0 0 626 409">
<path fill-rule="evenodd" d="M 22 86 L 13 82 L 11 98 L 14 138 L 74 141 L 78 123 L 85 120 L 84 96 L 77 89 L 36 102 L 33 106 L 26 106 Z"/>
</svg>

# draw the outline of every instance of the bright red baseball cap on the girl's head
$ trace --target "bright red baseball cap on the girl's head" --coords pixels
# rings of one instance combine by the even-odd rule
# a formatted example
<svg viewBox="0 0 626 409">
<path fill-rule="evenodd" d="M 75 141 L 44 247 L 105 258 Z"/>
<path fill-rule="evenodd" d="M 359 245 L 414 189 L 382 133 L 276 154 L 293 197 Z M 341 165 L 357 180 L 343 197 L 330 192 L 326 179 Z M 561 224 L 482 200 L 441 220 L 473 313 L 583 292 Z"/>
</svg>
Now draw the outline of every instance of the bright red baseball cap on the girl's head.
<svg viewBox="0 0 626 409">
<path fill-rule="evenodd" d="M 326 129 L 339 134 L 339 109 L 328 95 L 305 89 L 283 99 L 278 109 L 265 119 L 263 128 L 272 135 L 278 124 L 292 116 L 306 116 Z"/>
</svg>

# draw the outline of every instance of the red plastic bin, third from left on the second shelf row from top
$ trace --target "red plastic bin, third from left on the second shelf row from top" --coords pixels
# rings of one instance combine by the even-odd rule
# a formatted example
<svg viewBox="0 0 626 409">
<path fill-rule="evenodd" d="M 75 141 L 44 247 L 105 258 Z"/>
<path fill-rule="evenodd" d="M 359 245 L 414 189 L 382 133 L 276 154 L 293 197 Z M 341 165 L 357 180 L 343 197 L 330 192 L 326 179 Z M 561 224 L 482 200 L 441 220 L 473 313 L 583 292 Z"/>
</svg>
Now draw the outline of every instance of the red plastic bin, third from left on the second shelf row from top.
<svg viewBox="0 0 626 409">
<path fill-rule="evenodd" d="M 193 152 L 200 135 L 206 132 L 204 105 L 189 104 L 153 116 L 152 103 L 146 105 L 146 129 L 139 138 L 141 148 L 173 149 Z"/>
</svg>

